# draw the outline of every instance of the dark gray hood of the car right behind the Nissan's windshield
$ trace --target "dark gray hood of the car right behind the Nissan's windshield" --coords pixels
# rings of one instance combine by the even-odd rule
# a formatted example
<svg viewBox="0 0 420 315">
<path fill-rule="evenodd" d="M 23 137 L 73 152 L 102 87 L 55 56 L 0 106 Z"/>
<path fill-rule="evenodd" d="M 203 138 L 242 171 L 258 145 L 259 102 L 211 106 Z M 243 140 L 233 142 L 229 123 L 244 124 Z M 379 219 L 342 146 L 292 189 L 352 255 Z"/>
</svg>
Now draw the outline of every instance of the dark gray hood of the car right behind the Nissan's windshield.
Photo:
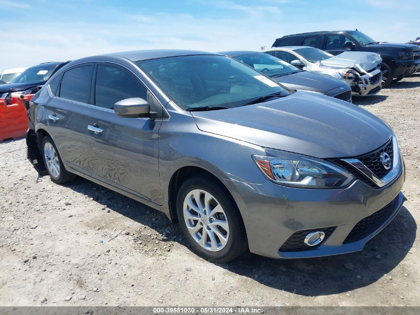
<svg viewBox="0 0 420 315">
<path fill-rule="evenodd" d="M 323 94 L 337 87 L 346 85 L 343 81 L 329 75 L 316 74 L 307 71 L 301 71 L 272 79 L 289 89 L 313 91 Z"/>
</svg>

